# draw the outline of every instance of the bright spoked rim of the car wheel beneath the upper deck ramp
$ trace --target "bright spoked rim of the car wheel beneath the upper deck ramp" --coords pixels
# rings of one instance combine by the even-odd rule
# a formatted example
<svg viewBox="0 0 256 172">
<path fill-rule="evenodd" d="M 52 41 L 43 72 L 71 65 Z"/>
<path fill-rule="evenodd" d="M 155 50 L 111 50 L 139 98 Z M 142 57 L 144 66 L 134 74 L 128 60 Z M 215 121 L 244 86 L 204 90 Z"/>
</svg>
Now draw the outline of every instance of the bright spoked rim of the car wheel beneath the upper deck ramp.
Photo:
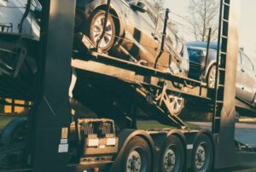
<svg viewBox="0 0 256 172">
<path fill-rule="evenodd" d="M 181 95 L 169 95 L 172 114 L 177 114 L 183 108 L 184 98 Z"/>
</svg>

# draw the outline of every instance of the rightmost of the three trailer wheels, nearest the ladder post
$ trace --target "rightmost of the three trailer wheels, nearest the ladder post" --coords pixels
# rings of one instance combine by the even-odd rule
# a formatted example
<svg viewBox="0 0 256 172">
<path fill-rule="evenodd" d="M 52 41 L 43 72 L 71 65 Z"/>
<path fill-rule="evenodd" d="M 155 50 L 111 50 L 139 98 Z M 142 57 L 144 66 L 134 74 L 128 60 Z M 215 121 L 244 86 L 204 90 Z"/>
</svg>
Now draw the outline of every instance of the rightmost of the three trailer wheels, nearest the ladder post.
<svg viewBox="0 0 256 172">
<path fill-rule="evenodd" d="M 199 135 L 192 153 L 191 171 L 211 171 L 213 161 L 212 142 L 207 135 Z"/>
</svg>

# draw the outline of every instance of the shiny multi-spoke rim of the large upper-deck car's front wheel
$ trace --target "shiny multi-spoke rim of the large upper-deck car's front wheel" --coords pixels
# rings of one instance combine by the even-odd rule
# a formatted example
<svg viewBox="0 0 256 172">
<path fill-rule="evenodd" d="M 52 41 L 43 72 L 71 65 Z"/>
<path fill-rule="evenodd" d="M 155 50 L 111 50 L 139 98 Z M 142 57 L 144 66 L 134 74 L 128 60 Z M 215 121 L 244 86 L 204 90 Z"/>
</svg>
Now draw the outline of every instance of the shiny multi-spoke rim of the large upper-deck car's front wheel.
<svg viewBox="0 0 256 172">
<path fill-rule="evenodd" d="M 100 40 L 100 37 L 102 36 L 104 20 L 105 20 L 104 16 L 99 16 L 96 18 L 96 20 L 93 23 L 92 37 L 93 37 L 94 43 L 97 43 Z M 102 37 L 101 42 L 99 43 L 99 48 L 102 49 L 102 48 L 108 47 L 112 37 L 113 37 L 113 27 L 110 21 L 107 20 L 106 31 L 104 36 Z"/>
</svg>

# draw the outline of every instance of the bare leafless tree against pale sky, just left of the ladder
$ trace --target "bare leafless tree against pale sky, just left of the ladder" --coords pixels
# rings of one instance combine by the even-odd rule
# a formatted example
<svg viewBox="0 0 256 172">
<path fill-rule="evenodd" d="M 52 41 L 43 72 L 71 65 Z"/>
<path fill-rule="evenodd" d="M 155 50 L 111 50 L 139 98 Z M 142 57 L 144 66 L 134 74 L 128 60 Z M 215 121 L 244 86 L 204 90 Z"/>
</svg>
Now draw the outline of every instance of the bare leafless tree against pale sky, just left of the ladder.
<svg viewBox="0 0 256 172">
<path fill-rule="evenodd" d="M 207 41 L 209 28 L 212 41 L 217 40 L 218 8 L 218 0 L 190 0 L 188 21 L 196 41 Z"/>
</svg>

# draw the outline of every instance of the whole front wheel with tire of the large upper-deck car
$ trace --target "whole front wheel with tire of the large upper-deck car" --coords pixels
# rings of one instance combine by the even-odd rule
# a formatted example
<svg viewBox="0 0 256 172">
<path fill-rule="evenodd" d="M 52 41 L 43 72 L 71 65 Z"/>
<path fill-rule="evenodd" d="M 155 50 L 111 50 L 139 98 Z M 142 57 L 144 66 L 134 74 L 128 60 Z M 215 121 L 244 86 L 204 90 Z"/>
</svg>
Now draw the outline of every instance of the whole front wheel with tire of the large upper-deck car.
<svg viewBox="0 0 256 172">
<path fill-rule="evenodd" d="M 96 10 L 94 13 L 90 14 L 89 22 L 87 23 L 87 28 L 84 31 L 85 34 L 90 38 L 91 42 L 97 44 L 97 40 L 102 35 L 103 25 L 105 20 L 105 10 Z M 109 49 L 113 47 L 115 41 L 116 28 L 115 23 L 111 14 L 108 14 L 108 21 L 106 26 L 106 32 L 102 38 L 101 43 L 99 43 L 99 49 L 102 53 L 107 53 Z"/>
</svg>

